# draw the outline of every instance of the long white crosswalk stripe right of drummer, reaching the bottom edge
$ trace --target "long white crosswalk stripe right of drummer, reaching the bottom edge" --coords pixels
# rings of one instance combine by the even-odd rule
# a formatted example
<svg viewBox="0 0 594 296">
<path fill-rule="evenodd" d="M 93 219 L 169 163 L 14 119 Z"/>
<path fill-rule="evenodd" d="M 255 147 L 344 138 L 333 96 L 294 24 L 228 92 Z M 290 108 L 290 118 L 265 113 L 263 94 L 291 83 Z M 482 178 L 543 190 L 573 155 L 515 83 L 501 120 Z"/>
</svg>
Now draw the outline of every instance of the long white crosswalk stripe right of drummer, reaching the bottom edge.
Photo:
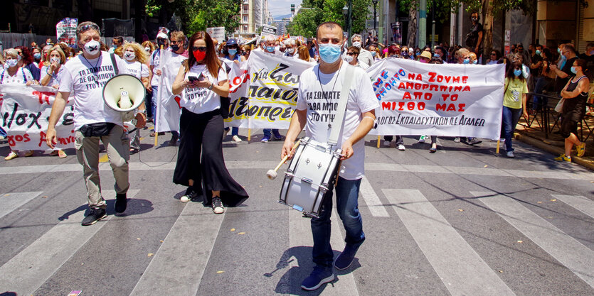
<svg viewBox="0 0 594 296">
<path fill-rule="evenodd" d="M 383 193 L 451 295 L 515 295 L 420 191 Z"/>
</svg>

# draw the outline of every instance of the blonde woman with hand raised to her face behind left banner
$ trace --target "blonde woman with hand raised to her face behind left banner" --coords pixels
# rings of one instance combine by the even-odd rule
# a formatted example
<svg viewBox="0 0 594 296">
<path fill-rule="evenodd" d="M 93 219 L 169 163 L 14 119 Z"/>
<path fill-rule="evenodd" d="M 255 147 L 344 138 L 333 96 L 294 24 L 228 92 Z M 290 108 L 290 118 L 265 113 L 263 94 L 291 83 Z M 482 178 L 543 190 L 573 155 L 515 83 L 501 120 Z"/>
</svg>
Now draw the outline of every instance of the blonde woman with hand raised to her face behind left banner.
<svg viewBox="0 0 594 296">
<path fill-rule="evenodd" d="M 43 62 L 43 67 L 41 67 L 41 80 L 39 80 L 39 84 L 43 85 L 44 87 L 53 87 L 55 89 L 60 88 L 60 80 L 62 78 L 62 71 L 64 68 L 62 65 L 66 62 L 66 55 L 62 51 L 59 45 L 55 45 L 46 57 L 46 60 Z M 60 148 L 55 148 L 51 153 L 50 156 L 58 155 L 59 158 L 65 158 L 66 153 L 64 150 Z"/>
</svg>

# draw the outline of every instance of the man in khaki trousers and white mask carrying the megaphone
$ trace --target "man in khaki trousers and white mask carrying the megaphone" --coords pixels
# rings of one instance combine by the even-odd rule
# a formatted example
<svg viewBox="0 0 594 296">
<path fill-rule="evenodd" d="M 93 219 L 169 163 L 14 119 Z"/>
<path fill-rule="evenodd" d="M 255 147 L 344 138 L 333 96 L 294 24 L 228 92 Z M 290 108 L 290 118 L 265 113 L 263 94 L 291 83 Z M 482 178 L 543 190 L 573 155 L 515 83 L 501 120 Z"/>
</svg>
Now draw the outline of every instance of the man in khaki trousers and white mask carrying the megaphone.
<svg viewBox="0 0 594 296">
<path fill-rule="evenodd" d="M 128 182 L 129 140 L 124 133 L 120 111 L 105 104 L 102 90 L 108 80 L 119 72 L 127 72 L 126 63 L 117 55 L 100 51 L 100 30 L 96 23 L 86 21 L 76 28 L 78 47 L 83 54 L 73 57 L 63 67 L 60 89 L 55 96 L 49 119 L 46 141 L 53 148 L 57 135 L 55 124 L 62 115 L 70 93 L 74 94 L 75 148 L 78 162 L 83 165 L 87 186 L 89 214 L 84 226 L 107 216 L 105 199 L 101 196 L 99 180 L 99 141 L 103 142 L 115 179 L 115 213 L 126 210 Z M 117 68 L 116 68 L 117 67 Z M 144 99 L 144 94 L 143 94 Z M 144 111 L 144 106 L 139 108 Z M 144 112 L 136 115 L 138 128 L 145 124 Z"/>
</svg>

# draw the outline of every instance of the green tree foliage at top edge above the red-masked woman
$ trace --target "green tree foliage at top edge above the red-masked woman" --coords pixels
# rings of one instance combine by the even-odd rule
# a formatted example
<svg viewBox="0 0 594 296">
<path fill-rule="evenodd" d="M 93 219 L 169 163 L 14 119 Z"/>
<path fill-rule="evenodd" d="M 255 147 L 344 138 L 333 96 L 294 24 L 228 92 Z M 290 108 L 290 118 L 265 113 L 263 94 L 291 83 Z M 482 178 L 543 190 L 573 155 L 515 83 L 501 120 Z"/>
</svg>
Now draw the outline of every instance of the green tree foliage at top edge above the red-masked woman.
<svg viewBox="0 0 594 296">
<path fill-rule="evenodd" d="M 161 9 L 176 13 L 181 18 L 186 33 L 203 31 L 210 27 L 225 27 L 233 33 L 239 26 L 235 18 L 239 14 L 242 0 L 147 0 L 148 16 L 154 16 Z"/>
</svg>

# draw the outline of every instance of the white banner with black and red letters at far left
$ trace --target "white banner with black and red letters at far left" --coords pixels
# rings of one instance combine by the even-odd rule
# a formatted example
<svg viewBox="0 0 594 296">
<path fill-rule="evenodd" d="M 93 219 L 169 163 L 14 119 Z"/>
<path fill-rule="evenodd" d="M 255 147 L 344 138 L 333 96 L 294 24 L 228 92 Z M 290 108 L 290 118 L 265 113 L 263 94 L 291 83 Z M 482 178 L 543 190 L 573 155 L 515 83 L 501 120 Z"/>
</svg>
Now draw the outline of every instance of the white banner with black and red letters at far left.
<svg viewBox="0 0 594 296">
<path fill-rule="evenodd" d="M 58 89 L 53 87 L 0 84 L 2 128 L 12 150 L 48 150 L 46 131 L 51 105 Z M 55 126 L 60 149 L 74 148 L 74 100 L 70 99 Z"/>
</svg>

